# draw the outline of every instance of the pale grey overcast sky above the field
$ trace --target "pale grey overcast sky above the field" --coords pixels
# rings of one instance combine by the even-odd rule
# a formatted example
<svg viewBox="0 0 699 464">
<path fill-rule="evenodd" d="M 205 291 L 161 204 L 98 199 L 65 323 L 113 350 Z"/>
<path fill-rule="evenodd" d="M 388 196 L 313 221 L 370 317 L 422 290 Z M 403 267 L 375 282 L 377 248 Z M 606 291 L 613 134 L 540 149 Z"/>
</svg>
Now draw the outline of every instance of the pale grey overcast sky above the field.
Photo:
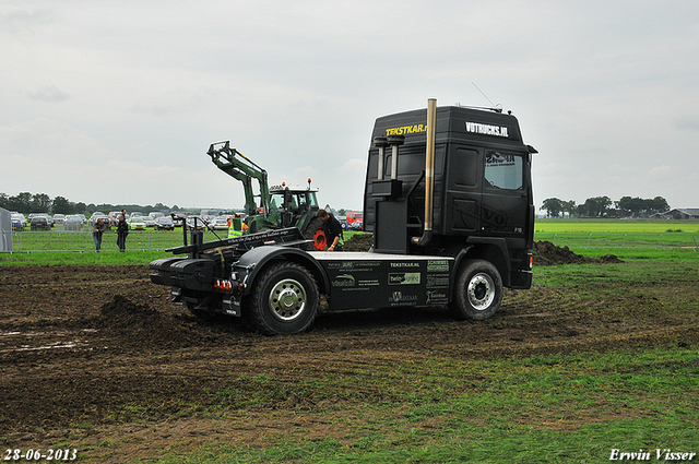
<svg viewBox="0 0 699 464">
<path fill-rule="evenodd" d="M 433 97 L 512 110 L 537 207 L 699 207 L 696 0 L 4 0 L 0 52 L 8 195 L 241 207 L 205 154 L 230 140 L 362 209 L 375 119 Z"/>
</svg>

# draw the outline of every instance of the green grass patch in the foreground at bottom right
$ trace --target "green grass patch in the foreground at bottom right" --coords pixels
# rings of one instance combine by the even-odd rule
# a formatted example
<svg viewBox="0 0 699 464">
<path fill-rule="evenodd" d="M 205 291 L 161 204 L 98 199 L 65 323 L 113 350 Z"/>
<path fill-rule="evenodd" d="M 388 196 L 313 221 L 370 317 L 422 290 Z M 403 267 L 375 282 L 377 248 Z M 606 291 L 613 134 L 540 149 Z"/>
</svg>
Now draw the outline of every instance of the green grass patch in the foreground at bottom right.
<svg viewBox="0 0 699 464">
<path fill-rule="evenodd" d="M 653 455 L 655 448 L 696 451 L 697 348 L 357 368 L 353 380 L 335 376 L 322 385 L 310 380 L 296 385 L 317 402 L 333 397 L 310 414 L 344 430 L 340 437 L 279 437 L 253 448 L 208 443 L 153 462 L 579 463 L 608 461 L 613 449 L 653 450 Z M 365 391 L 392 400 L 348 394 L 357 376 Z M 279 382 L 253 386 L 269 393 Z M 363 420 L 348 423 L 352 417 Z"/>
</svg>

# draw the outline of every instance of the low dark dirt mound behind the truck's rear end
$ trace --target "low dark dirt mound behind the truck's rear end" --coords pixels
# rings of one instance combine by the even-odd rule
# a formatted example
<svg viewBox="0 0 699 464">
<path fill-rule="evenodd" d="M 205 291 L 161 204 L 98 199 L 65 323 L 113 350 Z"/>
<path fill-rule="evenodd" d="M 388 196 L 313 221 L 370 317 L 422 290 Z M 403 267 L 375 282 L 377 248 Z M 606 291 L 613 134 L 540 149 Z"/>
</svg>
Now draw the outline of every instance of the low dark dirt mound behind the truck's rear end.
<svg viewBox="0 0 699 464">
<path fill-rule="evenodd" d="M 99 309 L 97 326 L 134 348 L 175 348 L 211 343 L 216 334 L 192 317 L 162 313 L 122 295 Z"/>
</svg>

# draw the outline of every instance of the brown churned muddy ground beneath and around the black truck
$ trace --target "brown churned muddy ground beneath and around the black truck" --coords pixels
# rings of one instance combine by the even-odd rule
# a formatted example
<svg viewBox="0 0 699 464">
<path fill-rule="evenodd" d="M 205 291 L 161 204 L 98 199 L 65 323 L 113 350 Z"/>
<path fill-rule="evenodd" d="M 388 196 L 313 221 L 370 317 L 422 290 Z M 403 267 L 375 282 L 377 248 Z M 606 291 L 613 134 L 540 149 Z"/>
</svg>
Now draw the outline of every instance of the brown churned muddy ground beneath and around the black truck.
<svg viewBox="0 0 699 464">
<path fill-rule="evenodd" d="M 540 247 L 537 260 L 555 263 Z M 497 358 L 697 337 L 679 317 L 653 316 L 662 297 L 633 288 L 628 301 L 614 302 L 639 308 L 628 316 L 606 311 L 608 301 L 581 308 L 561 290 L 537 287 L 508 292 L 489 321 L 457 322 L 445 308 L 321 312 L 311 331 L 287 337 L 198 320 L 168 294 L 150 283 L 145 264 L 0 266 L 2 449 L 70 443 L 90 462 L 133 462 L 217 438 L 256 445 L 299 430 L 328 437 L 343 431 L 294 394 L 247 409 L 245 420 L 187 405 L 261 374 L 293 383 L 295 376 L 352 374 L 355 366 L 405 356 Z"/>
</svg>

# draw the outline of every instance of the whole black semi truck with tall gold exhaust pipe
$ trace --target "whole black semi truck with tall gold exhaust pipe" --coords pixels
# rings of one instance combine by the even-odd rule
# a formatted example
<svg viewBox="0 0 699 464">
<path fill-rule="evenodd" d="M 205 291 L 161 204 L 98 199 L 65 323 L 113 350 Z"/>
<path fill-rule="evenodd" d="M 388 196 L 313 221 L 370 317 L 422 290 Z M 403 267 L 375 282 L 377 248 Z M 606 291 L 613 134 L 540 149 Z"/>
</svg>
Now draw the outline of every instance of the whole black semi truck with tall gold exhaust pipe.
<svg viewBox="0 0 699 464">
<path fill-rule="evenodd" d="M 296 227 L 191 240 L 150 264 L 151 281 L 198 316 L 244 318 L 261 333 L 307 330 L 329 310 L 448 306 L 493 317 L 503 287 L 532 284 L 532 155 L 510 112 L 461 106 L 376 120 L 364 187 L 367 252 L 306 251 Z"/>
</svg>

